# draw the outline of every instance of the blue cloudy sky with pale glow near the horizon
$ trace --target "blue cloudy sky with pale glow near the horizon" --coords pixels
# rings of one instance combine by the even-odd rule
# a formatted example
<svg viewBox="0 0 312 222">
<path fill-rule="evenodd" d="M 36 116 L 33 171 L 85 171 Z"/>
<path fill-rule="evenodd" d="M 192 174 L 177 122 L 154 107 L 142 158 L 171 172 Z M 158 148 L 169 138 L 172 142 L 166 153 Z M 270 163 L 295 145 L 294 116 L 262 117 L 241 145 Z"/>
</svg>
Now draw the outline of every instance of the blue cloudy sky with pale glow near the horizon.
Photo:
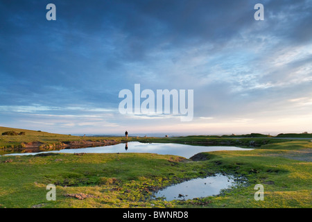
<svg viewBox="0 0 312 222">
<path fill-rule="evenodd" d="M 0 126 L 312 133 L 311 12 L 311 0 L 0 0 Z M 193 89 L 193 119 L 121 114 L 119 92 L 135 84 Z"/>
</svg>

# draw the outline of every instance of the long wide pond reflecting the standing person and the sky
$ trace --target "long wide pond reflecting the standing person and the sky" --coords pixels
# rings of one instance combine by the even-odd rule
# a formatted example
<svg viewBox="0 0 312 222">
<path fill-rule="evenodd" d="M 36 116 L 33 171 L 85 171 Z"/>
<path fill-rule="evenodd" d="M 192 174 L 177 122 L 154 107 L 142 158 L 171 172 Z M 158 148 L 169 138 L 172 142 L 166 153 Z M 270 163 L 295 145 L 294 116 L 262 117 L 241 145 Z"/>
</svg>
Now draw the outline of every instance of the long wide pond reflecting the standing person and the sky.
<svg viewBox="0 0 312 222">
<path fill-rule="evenodd" d="M 186 144 L 145 144 L 128 142 L 112 146 L 98 146 L 89 148 L 68 148 L 60 151 L 46 151 L 40 153 L 157 153 L 161 155 L 178 155 L 190 158 L 201 152 L 211 151 L 248 151 L 252 148 L 239 148 L 236 146 L 191 146 Z M 35 155 L 37 153 L 10 153 L 6 155 Z"/>
</svg>

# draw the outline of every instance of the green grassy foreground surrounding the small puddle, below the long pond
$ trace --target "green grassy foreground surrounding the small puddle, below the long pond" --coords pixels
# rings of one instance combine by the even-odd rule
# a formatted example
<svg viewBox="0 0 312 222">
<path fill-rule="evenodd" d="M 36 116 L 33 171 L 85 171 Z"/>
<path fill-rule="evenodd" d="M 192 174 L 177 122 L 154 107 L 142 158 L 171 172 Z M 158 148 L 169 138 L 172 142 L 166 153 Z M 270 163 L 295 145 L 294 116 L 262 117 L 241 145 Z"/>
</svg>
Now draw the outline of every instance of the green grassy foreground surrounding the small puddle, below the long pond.
<svg viewBox="0 0 312 222">
<path fill-rule="evenodd" d="M 201 161 L 148 153 L 1 156 L 0 207 L 312 207 L 311 150 L 311 142 L 293 141 L 202 153 Z M 218 172 L 247 182 L 206 198 L 150 198 L 174 182 Z M 55 201 L 46 200 L 48 184 L 56 185 Z M 256 184 L 263 201 L 254 200 Z"/>
</svg>

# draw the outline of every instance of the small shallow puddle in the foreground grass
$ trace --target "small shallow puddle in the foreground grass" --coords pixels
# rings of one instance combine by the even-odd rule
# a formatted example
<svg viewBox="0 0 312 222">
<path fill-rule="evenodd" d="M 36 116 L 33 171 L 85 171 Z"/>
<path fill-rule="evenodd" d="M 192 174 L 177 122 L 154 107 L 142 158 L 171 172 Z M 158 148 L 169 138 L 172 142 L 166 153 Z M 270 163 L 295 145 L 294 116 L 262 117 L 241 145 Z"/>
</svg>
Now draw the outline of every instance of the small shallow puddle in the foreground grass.
<svg viewBox="0 0 312 222">
<path fill-rule="evenodd" d="M 232 176 L 209 176 L 181 182 L 177 185 L 166 187 L 155 193 L 155 198 L 170 200 L 189 200 L 220 194 L 222 189 L 229 189 L 238 185 Z"/>
</svg>

